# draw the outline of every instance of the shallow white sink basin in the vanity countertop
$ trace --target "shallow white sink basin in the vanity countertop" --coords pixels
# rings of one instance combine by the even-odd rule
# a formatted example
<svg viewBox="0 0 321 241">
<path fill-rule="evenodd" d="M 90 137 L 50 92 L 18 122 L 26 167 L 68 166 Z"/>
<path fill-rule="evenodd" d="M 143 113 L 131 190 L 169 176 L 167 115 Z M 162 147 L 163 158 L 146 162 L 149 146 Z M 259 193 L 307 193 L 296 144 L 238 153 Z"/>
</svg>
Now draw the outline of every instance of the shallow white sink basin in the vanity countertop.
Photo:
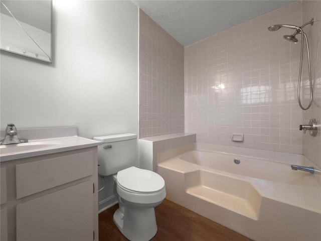
<svg viewBox="0 0 321 241">
<path fill-rule="evenodd" d="M 5 155 L 9 153 L 34 151 L 37 149 L 52 147 L 58 144 L 60 143 L 59 142 L 46 142 L 46 143 L 27 142 L 27 143 L 20 143 L 20 144 L 3 145 L 3 146 L 0 146 L 0 154 Z"/>
</svg>

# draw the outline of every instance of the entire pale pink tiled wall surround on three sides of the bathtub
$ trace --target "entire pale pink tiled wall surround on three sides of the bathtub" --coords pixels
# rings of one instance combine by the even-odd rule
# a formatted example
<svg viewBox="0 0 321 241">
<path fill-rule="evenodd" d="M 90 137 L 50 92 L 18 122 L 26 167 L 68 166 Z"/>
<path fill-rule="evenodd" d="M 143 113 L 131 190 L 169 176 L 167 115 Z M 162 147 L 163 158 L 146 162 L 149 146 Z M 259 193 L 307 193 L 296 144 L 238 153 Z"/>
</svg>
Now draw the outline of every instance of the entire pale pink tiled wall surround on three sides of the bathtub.
<svg viewBox="0 0 321 241">
<path fill-rule="evenodd" d="M 292 34 L 291 30 L 267 31 L 273 24 L 300 26 L 312 17 L 316 20 L 304 31 L 310 43 L 314 96 L 320 106 L 321 53 L 316 59 L 321 46 L 320 3 L 296 2 L 187 46 L 184 49 L 185 132 L 197 133 L 200 143 L 303 152 L 320 167 L 320 132 L 312 138 L 298 130 L 309 118 L 321 119 L 316 104 L 307 111 L 297 104 L 300 44 L 283 40 L 282 36 Z M 297 37 L 300 41 L 300 35 Z M 171 36 L 140 11 L 140 138 L 183 132 L 183 51 L 182 46 L 172 41 Z M 174 63 L 179 71 L 167 67 Z M 174 75 L 177 78 L 171 78 Z M 305 106 L 307 77 L 304 62 Z M 232 133 L 244 133 L 244 142 L 232 142 Z"/>
</svg>

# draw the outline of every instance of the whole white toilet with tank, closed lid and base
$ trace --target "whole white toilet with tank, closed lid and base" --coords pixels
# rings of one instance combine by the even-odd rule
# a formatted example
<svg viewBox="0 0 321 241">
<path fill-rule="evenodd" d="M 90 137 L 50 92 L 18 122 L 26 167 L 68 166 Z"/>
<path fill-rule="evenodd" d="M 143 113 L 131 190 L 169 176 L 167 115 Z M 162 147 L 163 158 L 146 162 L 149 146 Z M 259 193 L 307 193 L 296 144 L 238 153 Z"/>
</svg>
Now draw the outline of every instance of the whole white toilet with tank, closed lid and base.
<svg viewBox="0 0 321 241">
<path fill-rule="evenodd" d="M 154 207 L 166 196 L 164 179 L 157 173 L 134 167 L 136 134 L 94 137 L 98 146 L 98 174 L 113 175 L 119 208 L 114 222 L 131 241 L 150 240 L 157 231 Z"/>
</svg>

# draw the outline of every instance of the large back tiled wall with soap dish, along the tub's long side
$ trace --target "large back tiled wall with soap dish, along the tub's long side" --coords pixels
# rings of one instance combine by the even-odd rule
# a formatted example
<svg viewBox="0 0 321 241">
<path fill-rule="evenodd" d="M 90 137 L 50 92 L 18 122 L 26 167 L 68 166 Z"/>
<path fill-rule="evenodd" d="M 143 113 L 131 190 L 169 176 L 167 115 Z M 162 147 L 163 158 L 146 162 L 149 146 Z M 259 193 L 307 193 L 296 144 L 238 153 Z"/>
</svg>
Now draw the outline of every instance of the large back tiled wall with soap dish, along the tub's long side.
<svg viewBox="0 0 321 241">
<path fill-rule="evenodd" d="M 282 23 L 302 25 L 302 2 L 185 47 L 185 132 L 197 142 L 302 154 L 300 45 L 267 30 Z"/>
</svg>

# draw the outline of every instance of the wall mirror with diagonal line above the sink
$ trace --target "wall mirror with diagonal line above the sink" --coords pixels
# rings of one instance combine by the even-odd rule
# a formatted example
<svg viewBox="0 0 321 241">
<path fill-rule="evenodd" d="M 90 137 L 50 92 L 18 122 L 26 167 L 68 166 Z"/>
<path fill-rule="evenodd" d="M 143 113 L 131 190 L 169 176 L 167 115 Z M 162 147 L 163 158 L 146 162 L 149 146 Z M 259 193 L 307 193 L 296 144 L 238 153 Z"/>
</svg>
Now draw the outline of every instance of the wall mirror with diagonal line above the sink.
<svg viewBox="0 0 321 241">
<path fill-rule="evenodd" d="M 52 0 L 1 0 L 0 49 L 52 63 Z"/>
</svg>

